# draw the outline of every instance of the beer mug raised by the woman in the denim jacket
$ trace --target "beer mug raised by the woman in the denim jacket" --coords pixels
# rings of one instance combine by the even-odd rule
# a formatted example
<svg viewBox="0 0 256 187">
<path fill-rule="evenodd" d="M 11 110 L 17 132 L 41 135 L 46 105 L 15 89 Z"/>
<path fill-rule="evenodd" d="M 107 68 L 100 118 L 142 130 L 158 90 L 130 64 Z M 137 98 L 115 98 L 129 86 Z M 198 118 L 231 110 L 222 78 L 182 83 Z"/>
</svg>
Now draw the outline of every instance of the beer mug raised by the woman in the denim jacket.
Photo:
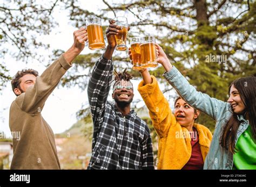
<svg viewBox="0 0 256 187">
<path fill-rule="evenodd" d="M 142 37 L 140 41 L 140 53 L 142 54 L 142 67 L 157 67 L 156 39 L 152 36 Z"/>
</svg>

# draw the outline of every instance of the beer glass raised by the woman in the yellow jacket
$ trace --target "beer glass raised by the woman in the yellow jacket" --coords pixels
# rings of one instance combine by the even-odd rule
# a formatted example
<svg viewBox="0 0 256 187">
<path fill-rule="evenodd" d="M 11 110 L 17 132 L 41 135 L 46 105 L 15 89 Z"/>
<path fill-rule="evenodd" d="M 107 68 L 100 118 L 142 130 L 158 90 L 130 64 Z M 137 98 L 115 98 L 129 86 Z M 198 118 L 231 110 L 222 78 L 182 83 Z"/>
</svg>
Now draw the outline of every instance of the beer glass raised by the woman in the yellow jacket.
<svg viewBox="0 0 256 187">
<path fill-rule="evenodd" d="M 140 55 L 140 37 L 133 37 L 130 40 L 132 52 L 132 69 L 140 70 L 142 68 L 142 56 Z"/>
</svg>

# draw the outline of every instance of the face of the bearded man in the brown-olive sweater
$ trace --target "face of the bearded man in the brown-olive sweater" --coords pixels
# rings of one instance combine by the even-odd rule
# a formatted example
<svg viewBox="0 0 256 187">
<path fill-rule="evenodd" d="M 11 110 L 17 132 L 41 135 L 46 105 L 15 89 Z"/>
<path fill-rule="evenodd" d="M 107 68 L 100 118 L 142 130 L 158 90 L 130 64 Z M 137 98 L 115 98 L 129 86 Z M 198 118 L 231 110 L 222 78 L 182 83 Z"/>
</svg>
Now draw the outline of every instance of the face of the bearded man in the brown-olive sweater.
<svg viewBox="0 0 256 187">
<path fill-rule="evenodd" d="M 19 78 L 19 87 L 14 89 L 16 95 L 21 95 L 21 93 L 26 92 L 26 89 L 31 87 L 36 83 L 36 76 L 33 74 L 26 74 Z"/>
</svg>

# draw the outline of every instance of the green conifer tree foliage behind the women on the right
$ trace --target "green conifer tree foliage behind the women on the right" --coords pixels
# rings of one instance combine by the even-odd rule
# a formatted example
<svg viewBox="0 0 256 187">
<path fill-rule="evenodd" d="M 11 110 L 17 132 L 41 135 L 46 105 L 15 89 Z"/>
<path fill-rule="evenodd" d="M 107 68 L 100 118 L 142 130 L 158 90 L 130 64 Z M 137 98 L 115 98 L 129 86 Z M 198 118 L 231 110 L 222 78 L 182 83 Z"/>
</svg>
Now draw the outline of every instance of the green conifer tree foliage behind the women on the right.
<svg viewBox="0 0 256 187">
<path fill-rule="evenodd" d="M 255 52 L 252 48 L 245 49 L 244 45 L 246 41 L 248 43 L 255 40 L 255 19 L 253 18 L 255 18 L 256 3 L 250 2 L 250 11 L 235 20 L 233 16 L 237 12 L 232 9 L 237 6 L 237 11 L 242 12 L 245 10 L 242 8 L 244 3 L 226 2 L 218 8 L 218 11 L 215 10 L 217 1 L 208 3 L 207 9 L 211 10 L 210 15 L 212 16 L 207 18 L 208 21 L 201 20 L 194 14 L 197 11 L 204 11 L 200 6 L 196 8 L 194 3 L 182 1 L 183 8 L 181 10 L 180 2 L 166 4 L 163 1 L 136 1 L 133 3 L 128 1 L 111 3 L 108 1 L 110 7 L 99 10 L 98 13 L 82 11 L 82 9 L 79 9 L 79 12 L 84 13 L 83 17 L 95 15 L 104 20 L 111 19 L 106 16 L 113 12 L 116 15 L 122 12 L 130 13 L 130 16 L 133 17 L 133 19 L 129 19 L 130 37 L 138 34 L 154 34 L 170 61 L 198 91 L 207 93 L 211 97 L 227 100 L 228 85 L 235 78 L 255 75 L 256 72 Z M 70 6 L 67 5 L 67 7 Z M 71 13 L 74 25 L 80 25 L 77 24 L 80 21 L 79 12 Z M 179 21 L 182 24 L 179 24 Z M 148 32 L 148 28 L 151 28 L 151 33 Z M 232 44 L 230 40 L 232 34 L 238 36 L 235 44 Z M 237 59 L 235 56 L 238 53 L 248 56 L 248 59 Z M 209 55 L 223 56 L 226 61 L 207 61 L 206 57 Z M 77 59 L 76 64 L 78 67 L 88 68 L 90 71 L 97 56 L 98 54 L 95 53 L 83 55 Z M 122 57 L 119 53 L 113 55 L 113 61 L 117 70 L 122 70 L 127 66 L 131 67 L 129 58 Z M 90 62 L 92 63 L 90 64 Z M 164 68 L 161 66 L 150 71 L 151 75 L 156 76 L 158 81 L 165 85 L 165 90 L 169 90 L 169 84 L 163 80 L 163 73 Z M 132 75 L 134 78 L 141 79 L 137 71 L 132 71 Z M 83 110 L 81 111 L 80 115 L 83 115 Z M 150 124 L 149 121 L 147 122 Z M 206 125 L 213 132 L 215 123 L 210 117 L 201 113 L 199 123 Z"/>
</svg>

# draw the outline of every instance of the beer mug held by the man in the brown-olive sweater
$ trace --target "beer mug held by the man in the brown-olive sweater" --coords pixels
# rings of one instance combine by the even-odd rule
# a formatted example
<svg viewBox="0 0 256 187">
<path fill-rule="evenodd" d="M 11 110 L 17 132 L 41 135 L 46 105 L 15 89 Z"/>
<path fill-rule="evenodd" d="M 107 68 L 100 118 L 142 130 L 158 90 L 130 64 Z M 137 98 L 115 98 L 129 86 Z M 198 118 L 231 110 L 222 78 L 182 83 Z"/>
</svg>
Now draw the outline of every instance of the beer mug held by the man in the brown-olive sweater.
<svg viewBox="0 0 256 187">
<path fill-rule="evenodd" d="M 91 50 L 99 50 L 105 48 L 103 37 L 102 22 L 100 18 L 89 18 L 85 21 L 88 40 L 85 45 Z"/>
</svg>

